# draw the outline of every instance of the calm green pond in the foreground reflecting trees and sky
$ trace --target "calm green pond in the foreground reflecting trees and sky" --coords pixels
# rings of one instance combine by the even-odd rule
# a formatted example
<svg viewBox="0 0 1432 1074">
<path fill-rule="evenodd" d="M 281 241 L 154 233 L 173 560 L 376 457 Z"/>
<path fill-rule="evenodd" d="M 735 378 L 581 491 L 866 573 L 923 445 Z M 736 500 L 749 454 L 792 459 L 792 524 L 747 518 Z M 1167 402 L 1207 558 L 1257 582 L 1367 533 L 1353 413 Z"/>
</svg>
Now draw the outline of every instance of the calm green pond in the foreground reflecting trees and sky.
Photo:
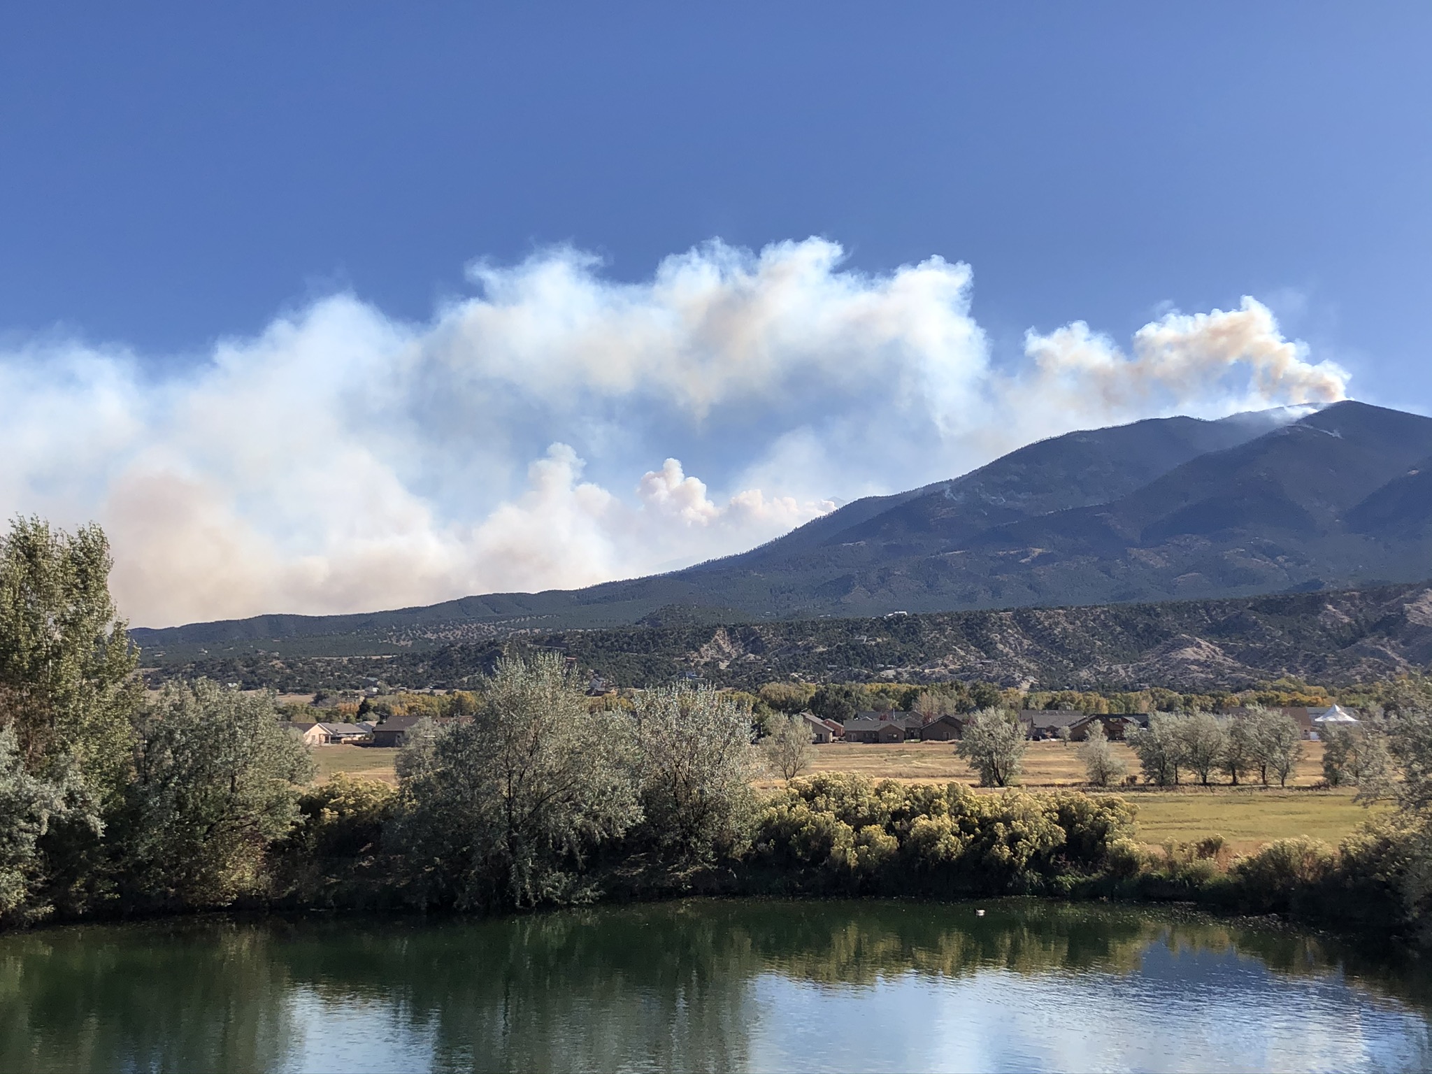
<svg viewBox="0 0 1432 1074">
<path fill-rule="evenodd" d="M 1432 1070 L 1425 969 L 1197 916 L 978 906 L 0 937 L 0 1070 Z"/>
</svg>

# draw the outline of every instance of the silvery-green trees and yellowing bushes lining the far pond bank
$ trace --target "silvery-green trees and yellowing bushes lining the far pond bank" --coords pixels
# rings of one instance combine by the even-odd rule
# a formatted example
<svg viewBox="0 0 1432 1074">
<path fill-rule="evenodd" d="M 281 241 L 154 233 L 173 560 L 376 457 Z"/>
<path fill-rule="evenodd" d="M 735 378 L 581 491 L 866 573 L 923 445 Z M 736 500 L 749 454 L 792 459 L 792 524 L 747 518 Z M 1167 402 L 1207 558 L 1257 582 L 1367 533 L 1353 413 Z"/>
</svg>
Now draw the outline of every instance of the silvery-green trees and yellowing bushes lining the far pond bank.
<svg viewBox="0 0 1432 1074">
<path fill-rule="evenodd" d="M 1388 684 L 1365 737 L 1323 750 L 1329 782 L 1390 803 L 1337 846 L 1296 835 L 1239 853 L 1210 835 L 1150 849 L 1113 786 L 1015 786 L 1028 743 L 997 697 L 955 743 L 988 789 L 800 775 L 811 746 L 799 716 L 772 712 L 758 726 L 750 700 L 690 684 L 593 703 L 551 653 L 498 660 L 471 716 L 410 729 L 395 785 L 348 773 L 314 783 L 312 752 L 272 693 L 198 680 L 145 695 L 109 567 L 97 527 L 67 534 L 21 518 L 0 544 L 3 925 L 233 908 L 1037 895 L 1428 937 L 1425 679 Z M 825 687 L 823 703 L 841 689 Z M 1282 783 L 1303 749 L 1272 713 L 1230 722 L 1197 709 L 1156 715 L 1130 746 L 1144 782 L 1164 789 L 1180 768 L 1201 783 L 1220 769 L 1250 782 L 1259 766 L 1263 782 L 1272 768 Z M 1067 749 L 1094 782 L 1131 775 L 1101 733 Z"/>
</svg>

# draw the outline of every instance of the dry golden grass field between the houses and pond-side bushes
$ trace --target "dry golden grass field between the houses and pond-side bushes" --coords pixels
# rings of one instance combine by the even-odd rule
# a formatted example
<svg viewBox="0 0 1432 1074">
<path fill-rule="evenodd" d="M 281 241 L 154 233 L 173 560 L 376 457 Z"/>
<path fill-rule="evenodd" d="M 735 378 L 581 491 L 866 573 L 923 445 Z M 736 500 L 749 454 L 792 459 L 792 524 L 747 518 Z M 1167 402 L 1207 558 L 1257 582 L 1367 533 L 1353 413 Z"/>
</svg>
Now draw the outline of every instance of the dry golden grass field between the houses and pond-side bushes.
<svg viewBox="0 0 1432 1074">
<path fill-rule="evenodd" d="M 1369 811 L 1353 800 L 1355 789 L 1317 789 L 1323 782 L 1322 743 L 1306 742 L 1305 753 L 1287 788 L 1262 783 L 1233 788 L 1220 779 L 1209 788 L 1191 782 L 1177 789 L 1140 786 L 1118 788 L 1137 809 L 1138 835 L 1148 845 L 1169 841 L 1196 842 L 1207 835 L 1221 835 L 1234 853 L 1306 835 L 1337 845 L 1369 818 Z M 1110 748 L 1130 772 L 1138 770 L 1133 750 L 1121 742 Z M 811 772 L 852 772 L 871 779 L 902 783 L 949 783 L 974 786 L 978 780 L 949 743 L 843 743 L 815 748 Z M 362 746 L 319 746 L 315 752 L 318 780 L 338 772 L 397 782 L 397 750 Z M 779 780 L 762 780 L 762 790 L 775 789 Z M 1028 790 L 1083 788 L 1084 766 L 1078 746 L 1064 742 L 1031 742 L 1024 755 L 1020 785 Z"/>
</svg>

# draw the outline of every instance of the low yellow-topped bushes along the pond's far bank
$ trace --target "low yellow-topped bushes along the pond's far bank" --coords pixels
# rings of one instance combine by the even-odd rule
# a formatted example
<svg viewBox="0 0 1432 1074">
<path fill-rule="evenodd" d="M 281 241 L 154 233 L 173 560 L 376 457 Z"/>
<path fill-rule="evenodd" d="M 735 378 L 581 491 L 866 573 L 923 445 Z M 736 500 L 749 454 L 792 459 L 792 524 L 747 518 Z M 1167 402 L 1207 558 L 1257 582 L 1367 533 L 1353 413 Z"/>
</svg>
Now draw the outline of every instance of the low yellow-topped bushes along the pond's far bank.
<svg viewBox="0 0 1432 1074">
<path fill-rule="evenodd" d="M 387 846 L 402 796 L 377 780 L 338 776 L 302 799 L 306 823 L 276 848 L 271 895 L 284 908 L 455 906 L 405 888 L 411 861 Z M 1146 852 L 1133 809 L 1116 795 L 1074 790 L 977 795 L 951 783 L 901 785 L 849 773 L 795 779 L 753 818 L 739 855 L 684 865 L 611 846 L 586 863 L 583 899 L 730 895 L 968 898 L 1047 895 L 1193 901 L 1280 914 L 1337 929 L 1426 939 L 1415 829 L 1372 825 L 1340 848 L 1297 838 L 1229 859 L 1223 841 Z M 556 892 L 554 892 L 556 894 Z M 272 905 L 272 904 L 271 904 Z"/>
</svg>

